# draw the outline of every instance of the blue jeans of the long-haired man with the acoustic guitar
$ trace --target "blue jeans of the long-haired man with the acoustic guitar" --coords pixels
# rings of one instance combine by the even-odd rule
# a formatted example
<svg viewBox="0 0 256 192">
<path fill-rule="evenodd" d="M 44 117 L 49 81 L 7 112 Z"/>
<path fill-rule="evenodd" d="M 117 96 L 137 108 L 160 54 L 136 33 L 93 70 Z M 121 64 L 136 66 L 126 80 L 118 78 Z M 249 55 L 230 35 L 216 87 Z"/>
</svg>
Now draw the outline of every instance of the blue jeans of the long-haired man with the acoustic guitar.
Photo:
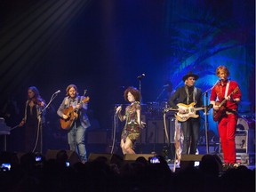
<svg viewBox="0 0 256 192">
<path fill-rule="evenodd" d="M 81 124 L 76 127 L 75 122 L 71 130 L 68 132 L 68 145 L 70 150 L 78 152 L 77 154 L 82 162 L 87 161 L 84 136 L 84 127 Z"/>
</svg>

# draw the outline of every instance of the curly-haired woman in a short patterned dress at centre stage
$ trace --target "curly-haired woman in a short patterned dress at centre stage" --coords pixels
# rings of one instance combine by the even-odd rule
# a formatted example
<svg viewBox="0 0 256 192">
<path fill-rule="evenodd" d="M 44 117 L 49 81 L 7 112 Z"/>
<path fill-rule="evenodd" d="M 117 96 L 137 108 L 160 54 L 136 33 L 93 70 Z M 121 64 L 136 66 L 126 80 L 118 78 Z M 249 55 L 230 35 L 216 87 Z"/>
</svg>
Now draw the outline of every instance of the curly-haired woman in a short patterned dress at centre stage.
<svg viewBox="0 0 256 192">
<path fill-rule="evenodd" d="M 140 92 L 134 87 L 128 87 L 124 91 L 124 100 L 131 104 L 125 108 L 124 116 L 121 114 L 122 106 L 116 108 L 120 121 L 126 120 L 120 146 L 123 154 L 135 154 L 134 143 L 140 137 L 140 128 L 145 126 L 144 122 L 140 122 Z"/>
</svg>

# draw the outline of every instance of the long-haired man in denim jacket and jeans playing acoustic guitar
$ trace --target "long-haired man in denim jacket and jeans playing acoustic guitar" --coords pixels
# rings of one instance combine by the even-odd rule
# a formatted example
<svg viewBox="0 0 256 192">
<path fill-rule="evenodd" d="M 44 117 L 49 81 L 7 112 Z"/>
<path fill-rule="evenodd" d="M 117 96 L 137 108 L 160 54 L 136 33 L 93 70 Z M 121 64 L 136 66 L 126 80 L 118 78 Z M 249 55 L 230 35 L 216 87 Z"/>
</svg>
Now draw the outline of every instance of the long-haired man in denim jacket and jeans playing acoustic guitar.
<svg viewBox="0 0 256 192">
<path fill-rule="evenodd" d="M 63 113 L 64 109 L 69 107 L 77 109 L 77 111 L 74 111 L 76 120 L 68 129 L 68 145 L 70 150 L 76 151 L 78 156 L 80 156 L 81 162 L 85 163 L 87 161 L 87 156 L 84 136 L 86 128 L 91 125 L 88 116 L 86 115 L 88 103 L 83 102 L 85 98 L 84 96 L 78 95 L 77 87 L 75 84 L 69 84 L 66 92 L 67 97 L 65 97 L 60 104 L 60 108 L 58 109 L 57 114 L 63 119 L 68 119 L 69 116 Z"/>
</svg>

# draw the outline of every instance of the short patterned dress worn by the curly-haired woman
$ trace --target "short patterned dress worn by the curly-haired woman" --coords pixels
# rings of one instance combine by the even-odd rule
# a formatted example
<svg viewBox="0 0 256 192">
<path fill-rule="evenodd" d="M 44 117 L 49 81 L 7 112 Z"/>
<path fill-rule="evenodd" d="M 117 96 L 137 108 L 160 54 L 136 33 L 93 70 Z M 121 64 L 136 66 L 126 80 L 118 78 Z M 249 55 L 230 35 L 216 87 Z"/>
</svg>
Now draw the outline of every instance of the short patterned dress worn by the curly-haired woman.
<svg viewBox="0 0 256 192">
<path fill-rule="evenodd" d="M 128 137 L 132 144 L 140 137 L 140 124 L 137 122 L 137 110 L 140 110 L 140 102 L 135 101 L 125 108 L 126 123 L 122 132 L 122 140 Z"/>
</svg>

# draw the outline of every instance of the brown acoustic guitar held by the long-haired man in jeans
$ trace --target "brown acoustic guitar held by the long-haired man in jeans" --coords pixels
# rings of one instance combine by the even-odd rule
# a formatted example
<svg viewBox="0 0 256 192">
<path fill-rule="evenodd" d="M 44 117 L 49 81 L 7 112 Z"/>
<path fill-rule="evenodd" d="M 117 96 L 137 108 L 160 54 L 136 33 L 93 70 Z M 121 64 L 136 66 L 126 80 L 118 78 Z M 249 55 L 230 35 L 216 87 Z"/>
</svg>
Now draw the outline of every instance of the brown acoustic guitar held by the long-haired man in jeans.
<svg viewBox="0 0 256 192">
<path fill-rule="evenodd" d="M 85 97 L 84 100 L 81 100 L 79 102 L 79 104 L 83 104 L 85 102 L 88 102 L 89 100 L 90 100 L 89 97 Z M 64 108 L 63 114 L 68 116 L 68 118 L 67 119 L 60 118 L 60 126 L 62 129 L 64 129 L 64 130 L 70 129 L 70 127 L 72 126 L 74 121 L 77 119 L 77 116 L 75 115 L 77 110 L 78 110 L 78 108 L 74 108 L 72 106 L 70 106 L 69 108 Z"/>
</svg>

